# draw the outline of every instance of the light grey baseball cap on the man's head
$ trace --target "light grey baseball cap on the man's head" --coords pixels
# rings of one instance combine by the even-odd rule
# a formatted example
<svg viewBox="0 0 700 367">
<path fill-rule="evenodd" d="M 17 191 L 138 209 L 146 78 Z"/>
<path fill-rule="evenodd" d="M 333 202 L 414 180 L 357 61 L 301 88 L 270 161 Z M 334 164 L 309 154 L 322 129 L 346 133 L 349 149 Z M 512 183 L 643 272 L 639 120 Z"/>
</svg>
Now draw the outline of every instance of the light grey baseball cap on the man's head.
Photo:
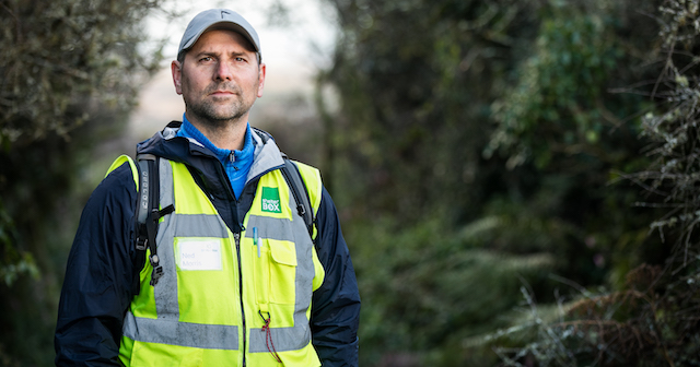
<svg viewBox="0 0 700 367">
<path fill-rule="evenodd" d="M 179 42 L 177 56 L 187 51 L 197 43 L 199 36 L 207 31 L 231 29 L 243 35 L 250 42 L 256 52 L 260 52 L 260 40 L 250 23 L 241 14 L 229 9 L 209 9 L 197 14 L 187 25 L 183 39 Z"/>
</svg>

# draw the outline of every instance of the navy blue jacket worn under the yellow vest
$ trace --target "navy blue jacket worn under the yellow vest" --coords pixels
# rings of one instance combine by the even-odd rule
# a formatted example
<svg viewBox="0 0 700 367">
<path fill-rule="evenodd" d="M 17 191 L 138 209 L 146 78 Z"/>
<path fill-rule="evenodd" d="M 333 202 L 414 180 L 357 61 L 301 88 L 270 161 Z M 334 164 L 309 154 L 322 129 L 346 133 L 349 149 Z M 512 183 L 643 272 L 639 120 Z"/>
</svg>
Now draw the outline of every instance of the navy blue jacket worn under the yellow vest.
<svg viewBox="0 0 700 367">
<path fill-rule="evenodd" d="M 271 139 L 260 130 L 254 131 L 264 140 Z M 185 138 L 165 140 L 159 132 L 140 143 L 137 152 L 185 163 L 229 228 L 234 233 L 241 230 L 257 180 L 248 182 L 236 200 L 219 159 Z M 58 309 L 57 366 L 120 365 L 122 320 L 142 267 L 136 262 L 143 261 L 135 248 L 136 204 L 136 183 L 131 169 L 125 164 L 100 183 L 83 210 Z M 358 283 L 338 213 L 325 188 L 317 228 L 316 250 L 326 275 L 313 295 L 312 343 L 324 367 L 358 366 Z"/>
</svg>

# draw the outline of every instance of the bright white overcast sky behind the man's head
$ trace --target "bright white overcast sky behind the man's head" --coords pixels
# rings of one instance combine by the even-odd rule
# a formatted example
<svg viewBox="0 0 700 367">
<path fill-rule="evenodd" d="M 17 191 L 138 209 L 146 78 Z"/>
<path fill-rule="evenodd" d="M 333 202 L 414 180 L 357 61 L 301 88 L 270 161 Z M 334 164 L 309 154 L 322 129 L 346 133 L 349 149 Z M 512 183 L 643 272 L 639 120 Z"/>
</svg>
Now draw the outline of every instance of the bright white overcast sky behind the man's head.
<svg viewBox="0 0 700 367">
<path fill-rule="evenodd" d="M 163 69 L 143 88 L 140 106 L 135 110 L 130 128 L 137 140 L 148 138 L 170 120 L 182 119 L 184 104 L 175 94 L 170 63 L 175 59 L 177 45 L 187 23 L 200 11 L 228 8 L 243 15 L 260 38 L 262 60 L 267 64 L 264 98 L 266 103 L 289 93 L 311 93 L 311 78 L 319 67 L 326 67 L 336 37 L 332 17 L 324 9 L 323 0 L 258 0 L 258 1 L 174 1 L 184 15 L 175 21 L 154 14 L 147 27 L 153 38 L 166 38 Z M 287 9 L 287 16 L 276 16 L 278 9 Z M 255 107 L 254 107 L 255 108 Z"/>
</svg>

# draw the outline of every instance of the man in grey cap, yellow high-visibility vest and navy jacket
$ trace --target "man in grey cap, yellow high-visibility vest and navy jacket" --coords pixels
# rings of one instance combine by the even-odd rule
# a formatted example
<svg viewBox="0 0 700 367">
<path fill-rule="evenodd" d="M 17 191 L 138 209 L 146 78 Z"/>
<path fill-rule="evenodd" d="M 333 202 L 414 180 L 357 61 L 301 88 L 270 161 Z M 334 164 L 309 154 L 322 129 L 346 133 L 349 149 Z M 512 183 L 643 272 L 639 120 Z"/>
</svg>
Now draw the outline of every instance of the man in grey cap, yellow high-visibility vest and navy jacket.
<svg viewBox="0 0 700 367">
<path fill-rule="evenodd" d="M 296 164 L 314 245 L 281 153 L 248 125 L 265 85 L 260 55 L 233 11 L 189 23 L 172 63 L 184 121 L 137 147 L 158 167 L 158 188 L 118 159 L 81 216 L 58 366 L 357 366 L 360 298 L 332 200 L 318 171 Z M 155 246 L 137 228 L 149 190 L 159 192 Z"/>
</svg>

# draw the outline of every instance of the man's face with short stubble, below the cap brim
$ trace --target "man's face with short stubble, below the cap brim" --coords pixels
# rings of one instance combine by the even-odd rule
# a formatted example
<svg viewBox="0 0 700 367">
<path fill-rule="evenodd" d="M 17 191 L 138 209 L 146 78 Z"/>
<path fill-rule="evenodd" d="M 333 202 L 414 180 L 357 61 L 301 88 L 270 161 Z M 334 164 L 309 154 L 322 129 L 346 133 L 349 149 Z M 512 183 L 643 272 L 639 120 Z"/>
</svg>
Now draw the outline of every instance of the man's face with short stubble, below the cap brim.
<svg viewBox="0 0 700 367">
<path fill-rule="evenodd" d="M 238 33 L 209 31 L 173 61 L 175 91 L 185 99 L 187 119 L 213 126 L 247 122 L 248 111 L 262 96 L 265 64 Z"/>
</svg>

